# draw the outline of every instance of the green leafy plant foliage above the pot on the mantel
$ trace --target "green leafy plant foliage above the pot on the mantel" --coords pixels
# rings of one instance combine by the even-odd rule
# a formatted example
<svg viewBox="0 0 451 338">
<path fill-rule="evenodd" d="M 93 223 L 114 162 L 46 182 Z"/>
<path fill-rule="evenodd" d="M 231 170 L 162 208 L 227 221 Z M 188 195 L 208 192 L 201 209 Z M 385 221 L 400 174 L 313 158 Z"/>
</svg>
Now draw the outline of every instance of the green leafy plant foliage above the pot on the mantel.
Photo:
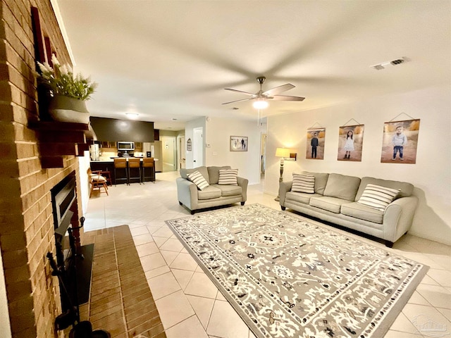
<svg viewBox="0 0 451 338">
<path fill-rule="evenodd" d="M 83 77 L 80 73 L 74 75 L 72 67 L 61 65 L 54 54 L 51 56 L 51 61 L 54 68 L 51 68 L 47 62 L 37 63 L 40 70 L 39 82 L 48 87 L 53 96 L 63 95 L 82 101 L 89 100 L 97 83 L 92 82 L 90 77 Z"/>
</svg>

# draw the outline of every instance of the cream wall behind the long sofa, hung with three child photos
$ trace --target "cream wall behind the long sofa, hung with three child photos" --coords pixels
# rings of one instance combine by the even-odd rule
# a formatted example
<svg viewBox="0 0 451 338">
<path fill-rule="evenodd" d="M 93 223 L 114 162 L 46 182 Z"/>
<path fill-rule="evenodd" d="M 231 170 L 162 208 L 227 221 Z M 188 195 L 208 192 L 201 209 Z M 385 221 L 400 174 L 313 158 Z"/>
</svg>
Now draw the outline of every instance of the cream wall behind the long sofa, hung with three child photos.
<svg viewBox="0 0 451 338">
<path fill-rule="evenodd" d="M 451 79 L 443 87 L 268 118 L 265 191 L 278 192 L 276 147 L 292 147 L 297 149 L 298 159 L 285 161 L 284 180 L 291 180 L 293 172 L 309 170 L 411 182 L 419 206 L 409 233 L 451 244 L 450 92 Z M 395 120 L 421 119 L 416 164 L 381 163 L 383 124 L 397 115 L 400 117 Z M 352 118 L 365 126 L 362 162 L 338 161 L 338 127 Z M 326 128 L 322 161 L 305 158 L 306 133 L 313 125 Z"/>
</svg>

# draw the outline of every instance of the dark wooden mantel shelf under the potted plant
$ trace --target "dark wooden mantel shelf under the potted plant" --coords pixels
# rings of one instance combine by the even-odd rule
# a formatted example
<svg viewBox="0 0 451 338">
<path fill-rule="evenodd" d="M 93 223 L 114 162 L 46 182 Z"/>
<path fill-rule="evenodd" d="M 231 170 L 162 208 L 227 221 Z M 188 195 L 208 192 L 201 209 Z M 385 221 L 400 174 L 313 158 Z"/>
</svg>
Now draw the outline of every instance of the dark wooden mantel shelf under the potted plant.
<svg viewBox="0 0 451 338">
<path fill-rule="evenodd" d="M 42 168 L 63 168 L 63 156 L 83 156 L 89 150 L 84 123 L 30 122 L 28 127 L 37 132 Z"/>
</svg>

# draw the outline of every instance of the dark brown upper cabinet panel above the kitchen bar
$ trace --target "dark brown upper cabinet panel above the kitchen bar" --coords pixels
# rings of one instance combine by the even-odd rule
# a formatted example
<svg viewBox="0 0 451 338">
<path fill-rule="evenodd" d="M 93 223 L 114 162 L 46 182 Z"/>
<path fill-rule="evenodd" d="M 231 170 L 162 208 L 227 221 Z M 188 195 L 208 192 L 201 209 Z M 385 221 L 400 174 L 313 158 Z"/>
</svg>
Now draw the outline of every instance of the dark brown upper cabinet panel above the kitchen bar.
<svg viewBox="0 0 451 338">
<path fill-rule="evenodd" d="M 116 118 L 91 117 L 97 139 L 108 141 L 154 142 L 154 123 Z"/>
</svg>

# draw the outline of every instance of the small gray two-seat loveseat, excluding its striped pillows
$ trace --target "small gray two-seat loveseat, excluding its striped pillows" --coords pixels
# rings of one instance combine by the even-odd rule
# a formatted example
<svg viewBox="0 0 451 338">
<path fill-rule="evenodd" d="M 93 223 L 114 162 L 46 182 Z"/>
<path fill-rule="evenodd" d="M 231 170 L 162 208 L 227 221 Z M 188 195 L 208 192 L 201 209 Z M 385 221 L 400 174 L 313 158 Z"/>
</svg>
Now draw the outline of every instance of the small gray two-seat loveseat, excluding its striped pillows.
<svg viewBox="0 0 451 338">
<path fill-rule="evenodd" d="M 180 169 L 180 177 L 177 178 L 177 196 L 178 203 L 194 212 L 214 206 L 224 206 L 240 202 L 245 205 L 247 199 L 246 178 L 237 177 L 237 185 L 218 184 L 219 170 L 230 169 L 230 166 L 223 167 L 198 167 L 193 169 Z M 188 175 L 198 171 L 202 174 L 209 186 L 205 189 L 198 189 L 197 185 L 188 180 Z"/>
</svg>

